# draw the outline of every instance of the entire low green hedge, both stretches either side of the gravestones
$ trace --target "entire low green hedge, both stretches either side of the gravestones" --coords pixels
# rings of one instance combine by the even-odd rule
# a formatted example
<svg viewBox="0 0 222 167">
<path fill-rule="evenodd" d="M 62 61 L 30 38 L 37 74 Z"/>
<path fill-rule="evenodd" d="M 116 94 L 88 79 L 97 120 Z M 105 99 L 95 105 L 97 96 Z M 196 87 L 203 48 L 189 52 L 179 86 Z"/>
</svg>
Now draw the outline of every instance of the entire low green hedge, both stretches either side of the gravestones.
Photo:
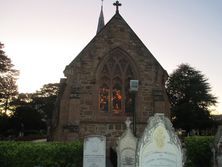
<svg viewBox="0 0 222 167">
<path fill-rule="evenodd" d="M 209 136 L 185 138 L 185 167 L 211 167 L 213 139 Z M 82 158 L 81 142 L 0 142 L 1 167 L 81 167 Z"/>
</svg>

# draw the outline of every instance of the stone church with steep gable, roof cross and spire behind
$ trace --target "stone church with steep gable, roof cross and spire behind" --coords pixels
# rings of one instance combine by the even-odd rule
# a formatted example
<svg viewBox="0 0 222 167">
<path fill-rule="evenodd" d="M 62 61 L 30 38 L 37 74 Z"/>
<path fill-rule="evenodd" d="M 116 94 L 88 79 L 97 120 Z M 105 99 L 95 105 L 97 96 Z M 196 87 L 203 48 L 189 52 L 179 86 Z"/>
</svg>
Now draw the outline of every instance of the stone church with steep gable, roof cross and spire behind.
<svg viewBox="0 0 222 167">
<path fill-rule="evenodd" d="M 55 141 L 104 135 L 112 147 L 127 117 L 139 137 L 150 116 L 169 116 L 168 74 L 121 16 L 119 1 L 114 5 L 107 24 L 101 9 L 97 34 L 65 67 L 53 119 Z M 130 91 L 131 80 L 138 81 L 136 92 Z"/>
</svg>

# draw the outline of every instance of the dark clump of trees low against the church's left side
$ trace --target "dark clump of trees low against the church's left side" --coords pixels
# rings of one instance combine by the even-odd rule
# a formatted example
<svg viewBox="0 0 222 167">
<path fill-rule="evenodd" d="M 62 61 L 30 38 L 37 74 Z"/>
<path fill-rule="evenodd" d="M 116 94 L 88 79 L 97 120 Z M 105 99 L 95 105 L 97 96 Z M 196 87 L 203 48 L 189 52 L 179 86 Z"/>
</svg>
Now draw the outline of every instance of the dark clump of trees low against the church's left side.
<svg viewBox="0 0 222 167">
<path fill-rule="evenodd" d="M 18 136 L 19 133 L 25 136 L 36 135 L 40 131 L 47 131 L 50 137 L 51 117 L 58 86 L 58 83 L 50 83 L 43 85 L 40 91 L 35 93 L 20 93 L 11 102 L 11 105 L 15 106 L 12 114 L 0 115 L 0 125 L 4 125 L 0 127 L 0 137 L 7 136 L 9 128 L 13 136 Z"/>
</svg>

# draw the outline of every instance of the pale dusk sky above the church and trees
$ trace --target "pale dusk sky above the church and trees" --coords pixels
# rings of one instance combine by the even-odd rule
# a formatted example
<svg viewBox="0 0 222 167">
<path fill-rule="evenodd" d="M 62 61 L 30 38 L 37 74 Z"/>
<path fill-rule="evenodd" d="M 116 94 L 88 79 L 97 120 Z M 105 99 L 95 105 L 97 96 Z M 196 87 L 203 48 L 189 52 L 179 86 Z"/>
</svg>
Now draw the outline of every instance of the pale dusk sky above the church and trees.
<svg viewBox="0 0 222 167">
<path fill-rule="evenodd" d="M 222 114 L 222 1 L 119 0 L 120 14 L 169 74 L 188 63 L 208 78 Z M 115 14 L 104 0 L 105 22 Z M 0 0 L 0 42 L 19 91 L 59 82 L 96 35 L 101 0 Z"/>
</svg>

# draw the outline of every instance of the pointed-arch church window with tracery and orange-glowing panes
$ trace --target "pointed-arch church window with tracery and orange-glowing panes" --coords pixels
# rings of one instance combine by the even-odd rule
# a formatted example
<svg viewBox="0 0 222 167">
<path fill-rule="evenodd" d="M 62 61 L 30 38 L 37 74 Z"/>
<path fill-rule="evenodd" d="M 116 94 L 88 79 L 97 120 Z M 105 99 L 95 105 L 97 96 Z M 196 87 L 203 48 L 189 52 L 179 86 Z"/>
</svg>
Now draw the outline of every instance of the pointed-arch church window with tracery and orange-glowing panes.
<svg viewBox="0 0 222 167">
<path fill-rule="evenodd" d="M 100 112 L 132 112 L 131 79 L 137 79 L 136 69 L 124 51 L 116 49 L 104 58 L 97 71 Z"/>
</svg>

